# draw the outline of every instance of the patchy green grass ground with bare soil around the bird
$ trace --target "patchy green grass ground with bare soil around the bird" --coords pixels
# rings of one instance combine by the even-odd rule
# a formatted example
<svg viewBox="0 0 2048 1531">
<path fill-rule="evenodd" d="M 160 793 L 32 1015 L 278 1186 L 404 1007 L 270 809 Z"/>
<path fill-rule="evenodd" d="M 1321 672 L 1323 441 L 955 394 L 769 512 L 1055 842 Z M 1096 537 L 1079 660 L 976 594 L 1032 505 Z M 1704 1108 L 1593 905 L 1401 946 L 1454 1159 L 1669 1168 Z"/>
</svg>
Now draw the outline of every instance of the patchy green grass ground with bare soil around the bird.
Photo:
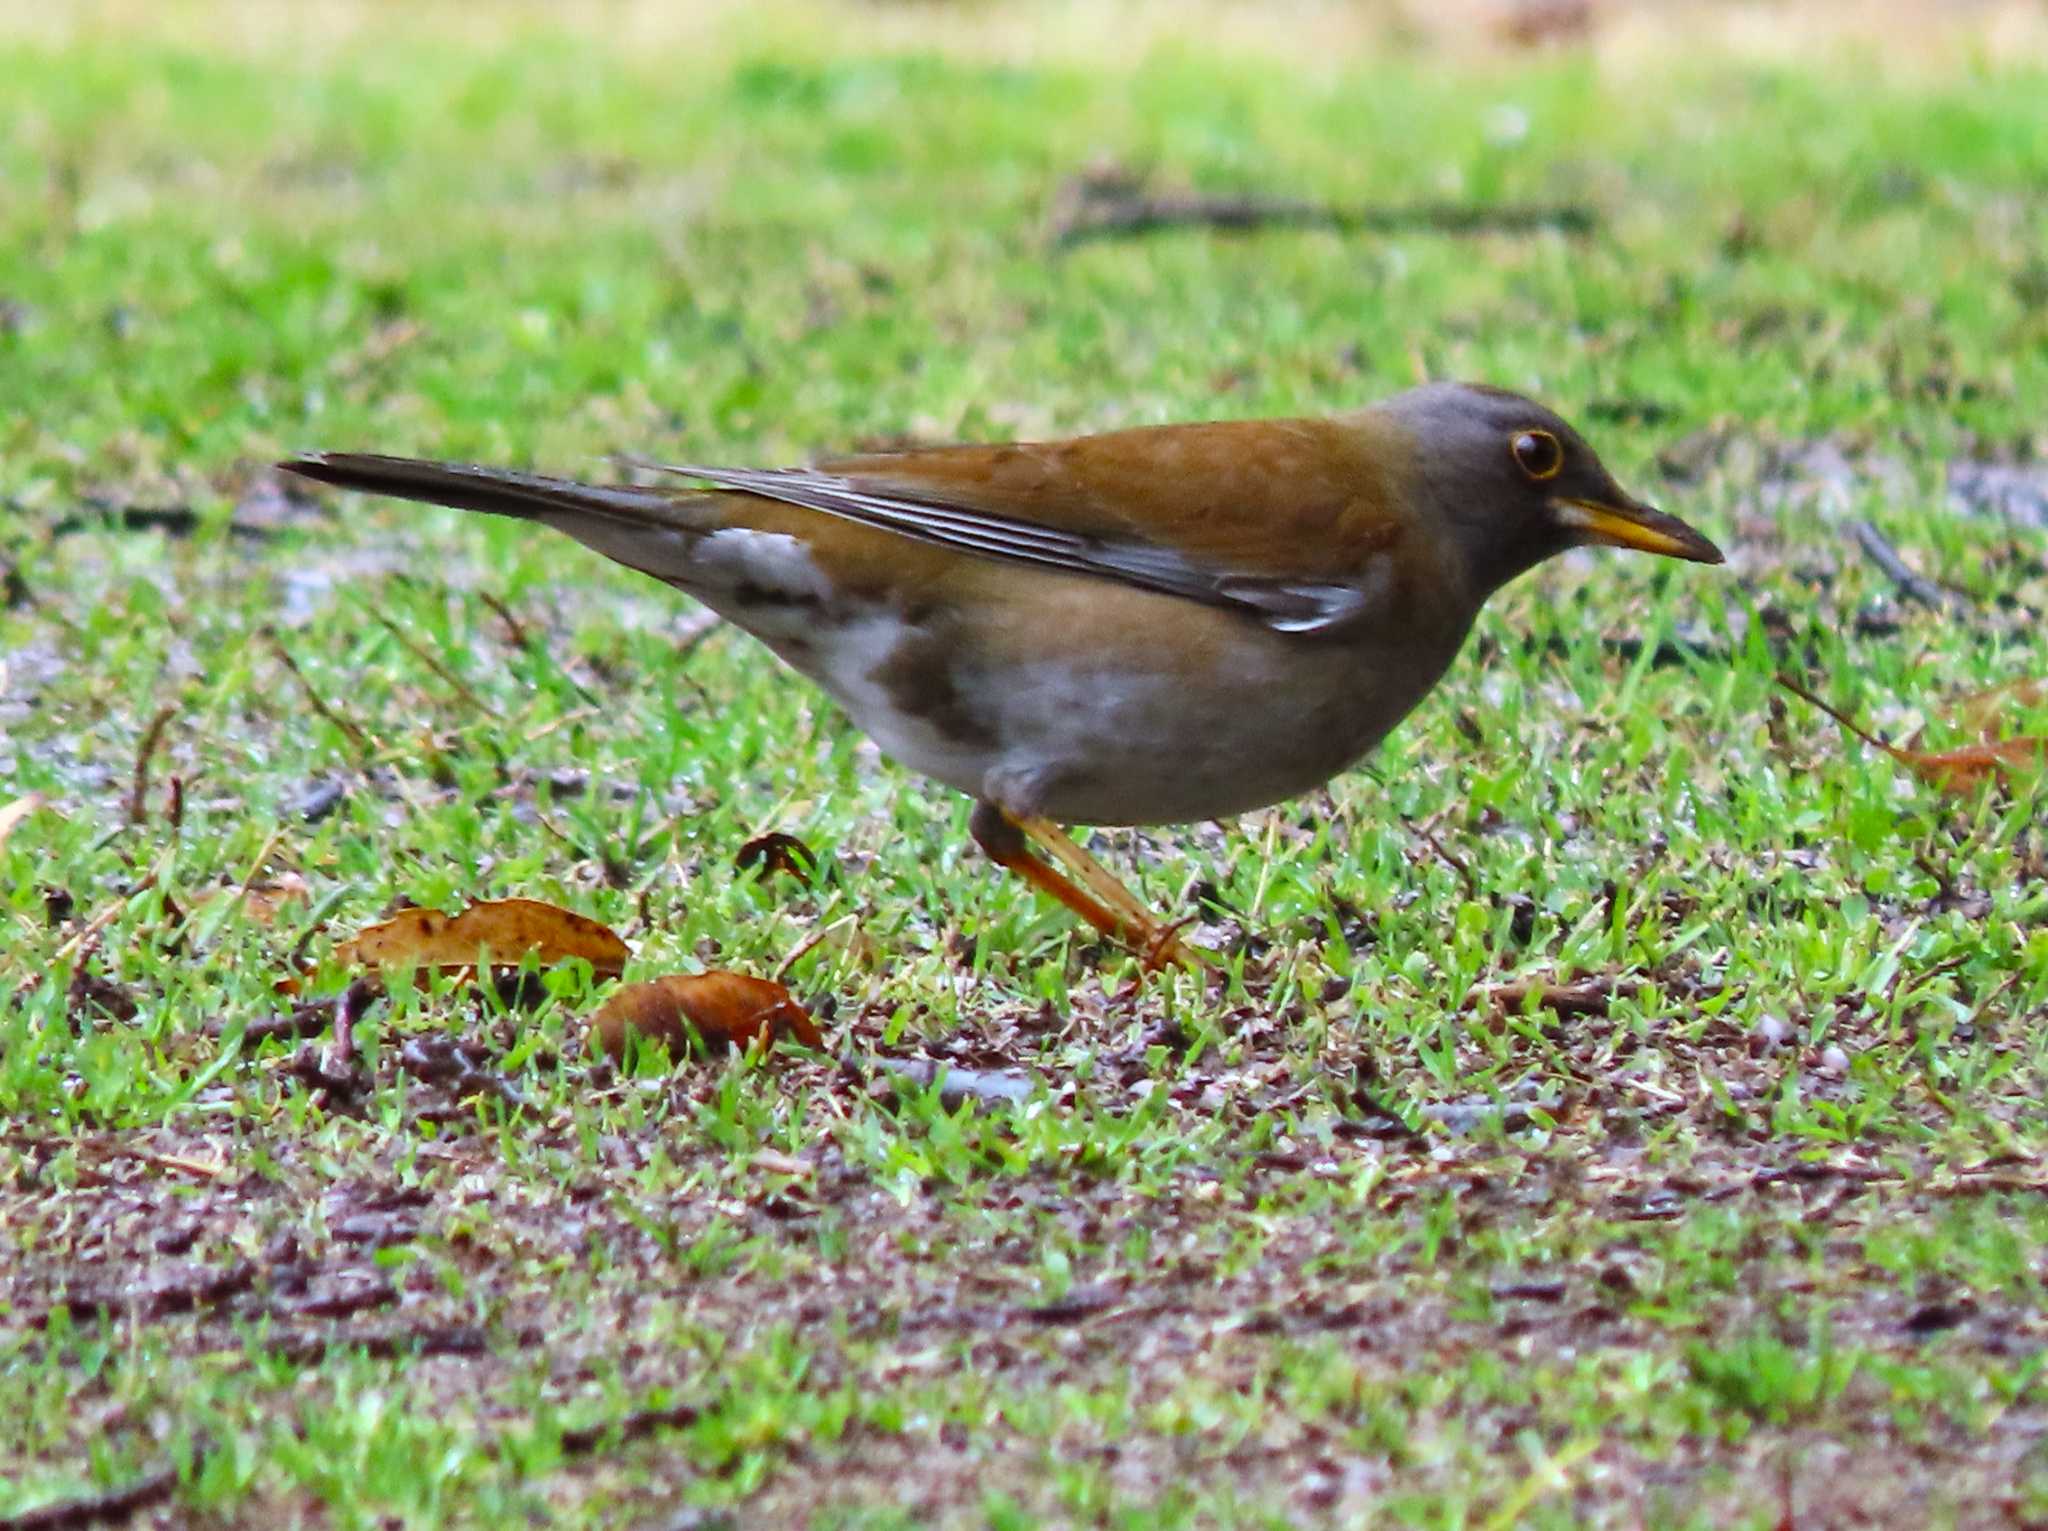
<svg viewBox="0 0 2048 1531">
<path fill-rule="evenodd" d="M 221 1525 L 2048 1515 L 2040 788 L 1935 794 L 1772 680 L 1954 743 L 2044 669 L 2042 532 L 1944 467 L 2048 452 L 2048 76 L 379 16 L 0 33 L 0 806 L 47 798 L 0 847 L 0 1515 L 164 1463 Z M 1599 227 L 1055 254 L 1100 156 Z M 1208 982 L 1133 987 L 965 802 L 743 635 L 680 643 L 682 598 L 260 473 L 782 463 L 1419 375 L 1556 403 L 1733 563 L 1548 567 L 1327 796 L 1102 837 L 1204 915 Z M 1780 467 L 1806 442 L 1860 465 L 1833 510 Z M 1851 518 L 1968 606 L 1903 604 Z M 735 868 L 766 831 L 811 886 Z M 270 923 L 219 896 L 285 872 Z M 354 1095 L 244 1040 L 395 901 L 512 894 L 627 933 L 629 976 L 834 927 L 786 976 L 836 1056 L 592 1064 L 578 970 L 373 1007 Z M 1475 997 L 1579 972 L 1606 1013 Z M 436 1085 L 442 1036 L 522 1105 Z M 838 1062 L 877 1052 L 1034 1097 Z"/>
</svg>

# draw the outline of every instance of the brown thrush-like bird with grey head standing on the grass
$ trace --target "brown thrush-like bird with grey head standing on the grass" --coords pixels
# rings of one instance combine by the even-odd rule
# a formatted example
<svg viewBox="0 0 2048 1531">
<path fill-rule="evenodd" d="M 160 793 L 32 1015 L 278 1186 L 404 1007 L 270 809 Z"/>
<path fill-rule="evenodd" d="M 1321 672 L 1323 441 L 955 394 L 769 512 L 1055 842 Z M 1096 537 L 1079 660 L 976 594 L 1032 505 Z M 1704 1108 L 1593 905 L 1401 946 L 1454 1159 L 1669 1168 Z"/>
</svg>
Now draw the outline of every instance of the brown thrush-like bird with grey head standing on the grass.
<svg viewBox="0 0 2048 1531">
<path fill-rule="evenodd" d="M 1231 819 L 1323 786 L 1436 688 L 1493 592 L 1567 549 L 1722 561 L 1559 413 L 1481 383 L 813 467 L 637 465 L 586 483 L 279 463 L 539 522 L 686 592 L 969 794 L 995 864 L 1151 968 L 1200 956 L 1061 825 Z"/>
</svg>

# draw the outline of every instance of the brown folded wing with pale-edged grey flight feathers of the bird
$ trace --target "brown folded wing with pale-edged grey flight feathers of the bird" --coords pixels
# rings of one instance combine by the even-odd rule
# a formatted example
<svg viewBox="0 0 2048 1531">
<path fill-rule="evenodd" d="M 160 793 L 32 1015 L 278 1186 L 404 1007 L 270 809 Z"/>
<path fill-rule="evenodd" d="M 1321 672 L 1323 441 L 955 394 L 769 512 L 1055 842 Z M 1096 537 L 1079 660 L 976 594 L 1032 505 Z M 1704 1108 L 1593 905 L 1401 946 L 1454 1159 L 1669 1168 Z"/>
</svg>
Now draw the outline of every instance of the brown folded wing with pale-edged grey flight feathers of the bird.
<svg viewBox="0 0 2048 1531">
<path fill-rule="evenodd" d="M 674 471 L 920 542 L 1321 632 L 1358 618 L 1386 583 L 1376 555 L 1399 534 L 1384 508 L 1401 491 L 1386 430 L 1358 415 L 1219 422 L 815 469 Z"/>
</svg>

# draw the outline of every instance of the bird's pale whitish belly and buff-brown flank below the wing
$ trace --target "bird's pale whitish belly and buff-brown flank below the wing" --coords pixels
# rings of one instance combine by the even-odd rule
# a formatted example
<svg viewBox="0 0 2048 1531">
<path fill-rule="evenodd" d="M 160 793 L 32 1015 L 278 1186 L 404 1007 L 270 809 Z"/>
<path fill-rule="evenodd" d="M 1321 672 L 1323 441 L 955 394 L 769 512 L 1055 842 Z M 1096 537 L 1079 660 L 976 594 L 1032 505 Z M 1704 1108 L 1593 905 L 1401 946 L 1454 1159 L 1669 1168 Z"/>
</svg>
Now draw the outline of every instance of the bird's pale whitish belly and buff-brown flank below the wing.
<svg viewBox="0 0 2048 1531">
<path fill-rule="evenodd" d="M 948 592 L 913 622 L 836 598 L 788 536 L 719 532 L 692 553 L 670 577 L 823 686 L 883 753 L 1065 823 L 1223 819 L 1321 786 L 1464 639 L 1462 620 L 1356 645 L 1282 635 L 1010 565 L 991 565 L 1001 587 Z"/>
</svg>

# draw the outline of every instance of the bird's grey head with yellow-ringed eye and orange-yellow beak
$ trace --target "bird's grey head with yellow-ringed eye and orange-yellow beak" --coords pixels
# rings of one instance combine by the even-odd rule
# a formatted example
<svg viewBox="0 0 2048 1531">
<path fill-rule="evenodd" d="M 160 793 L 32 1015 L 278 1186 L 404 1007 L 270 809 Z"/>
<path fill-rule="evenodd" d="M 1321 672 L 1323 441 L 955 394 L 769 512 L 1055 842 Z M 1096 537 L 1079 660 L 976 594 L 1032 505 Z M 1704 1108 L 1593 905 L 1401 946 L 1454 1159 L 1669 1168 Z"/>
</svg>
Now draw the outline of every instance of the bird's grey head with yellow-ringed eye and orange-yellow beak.
<svg viewBox="0 0 2048 1531">
<path fill-rule="evenodd" d="M 1415 491 L 1452 528 L 1481 596 L 1573 546 L 1720 563 L 1720 549 L 1622 489 L 1585 438 L 1534 399 L 1430 383 L 1376 411 L 1411 438 Z"/>
</svg>

